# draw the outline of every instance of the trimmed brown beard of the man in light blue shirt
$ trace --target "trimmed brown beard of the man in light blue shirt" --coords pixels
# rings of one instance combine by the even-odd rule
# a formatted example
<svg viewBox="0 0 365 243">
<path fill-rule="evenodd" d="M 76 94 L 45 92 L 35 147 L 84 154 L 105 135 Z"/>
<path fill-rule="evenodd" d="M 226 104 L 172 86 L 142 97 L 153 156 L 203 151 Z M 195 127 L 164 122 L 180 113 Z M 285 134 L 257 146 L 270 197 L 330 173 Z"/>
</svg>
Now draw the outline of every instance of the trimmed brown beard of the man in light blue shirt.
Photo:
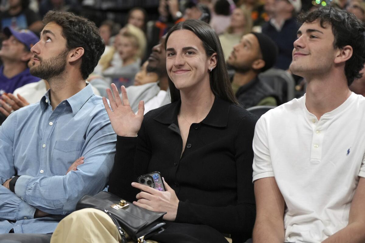
<svg viewBox="0 0 365 243">
<path fill-rule="evenodd" d="M 66 68 L 66 56 L 68 54 L 68 50 L 65 49 L 63 52 L 58 54 L 58 56 L 49 58 L 47 60 L 43 60 L 37 54 L 34 55 L 34 58 L 39 59 L 39 65 L 33 66 L 30 68 L 30 73 L 38 78 L 49 81 L 50 79 L 59 76 L 62 72 L 65 71 Z"/>
</svg>

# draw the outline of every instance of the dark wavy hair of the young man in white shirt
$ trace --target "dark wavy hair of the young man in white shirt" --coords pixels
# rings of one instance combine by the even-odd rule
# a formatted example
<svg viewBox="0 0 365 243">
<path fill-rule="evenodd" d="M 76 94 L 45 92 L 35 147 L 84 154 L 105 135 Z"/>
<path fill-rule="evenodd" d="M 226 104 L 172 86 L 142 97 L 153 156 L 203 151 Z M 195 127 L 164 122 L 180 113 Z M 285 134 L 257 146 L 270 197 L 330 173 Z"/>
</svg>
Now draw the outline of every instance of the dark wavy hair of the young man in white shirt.
<svg viewBox="0 0 365 243">
<path fill-rule="evenodd" d="M 302 13 L 298 16 L 299 23 L 319 21 L 322 28 L 330 24 L 334 35 L 334 48 L 347 45 L 353 48 L 352 56 L 345 62 L 347 84 L 362 77 L 360 71 L 365 63 L 365 26 L 352 13 L 332 7 L 319 8 L 313 12 Z"/>
</svg>

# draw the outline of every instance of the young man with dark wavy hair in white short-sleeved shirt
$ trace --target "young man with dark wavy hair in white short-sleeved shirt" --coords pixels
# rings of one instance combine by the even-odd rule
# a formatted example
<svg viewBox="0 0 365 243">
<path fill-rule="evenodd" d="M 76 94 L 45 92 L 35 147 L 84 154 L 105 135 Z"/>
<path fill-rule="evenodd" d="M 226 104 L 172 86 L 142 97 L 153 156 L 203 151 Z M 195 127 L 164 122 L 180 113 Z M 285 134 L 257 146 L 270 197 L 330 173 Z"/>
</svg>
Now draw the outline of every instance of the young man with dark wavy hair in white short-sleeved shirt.
<svg viewBox="0 0 365 243">
<path fill-rule="evenodd" d="M 365 62 L 365 27 L 320 8 L 301 15 L 290 70 L 307 93 L 257 122 L 253 242 L 365 242 L 365 98 L 349 85 Z"/>
</svg>

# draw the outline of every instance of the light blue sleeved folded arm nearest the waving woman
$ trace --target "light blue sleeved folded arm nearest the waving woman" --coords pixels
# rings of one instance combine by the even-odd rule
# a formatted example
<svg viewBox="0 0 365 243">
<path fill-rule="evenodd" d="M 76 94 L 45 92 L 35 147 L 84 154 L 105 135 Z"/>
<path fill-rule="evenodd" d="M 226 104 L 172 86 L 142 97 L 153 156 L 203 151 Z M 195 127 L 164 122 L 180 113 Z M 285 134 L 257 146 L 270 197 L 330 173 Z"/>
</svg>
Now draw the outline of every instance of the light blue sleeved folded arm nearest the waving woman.
<svg viewBox="0 0 365 243">
<path fill-rule="evenodd" d="M 22 175 L 15 185 L 16 195 L 43 212 L 66 214 L 74 211 L 83 195 L 100 192 L 113 166 L 116 136 L 106 115 L 95 117 L 95 121 L 89 124 L 91 130 L 82 152 L 84 163 L 77 171 L 65 176 Z"/>
</svg>

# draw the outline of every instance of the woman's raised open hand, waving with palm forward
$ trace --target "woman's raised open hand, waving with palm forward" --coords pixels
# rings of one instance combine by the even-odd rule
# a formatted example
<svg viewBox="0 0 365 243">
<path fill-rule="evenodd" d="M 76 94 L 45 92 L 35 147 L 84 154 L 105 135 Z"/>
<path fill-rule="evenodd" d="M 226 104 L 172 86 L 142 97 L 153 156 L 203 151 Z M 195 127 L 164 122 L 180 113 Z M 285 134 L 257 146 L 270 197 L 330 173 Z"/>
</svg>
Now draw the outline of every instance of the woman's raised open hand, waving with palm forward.
<svg viewBox="0 0 365 243">
<path fill-rule="evenodd" d="M 143 101 L 139 102 L 138 112 L 137 114 L 134 114 L 131 106 L 129 105 L 126 87 L 121 87 L 123 102 L 119 97 L 118 89 L 114 83 L 111 84 L 111 88 L 112 90 L 107 89 L 111 109 L 105 97 L 103 97 L 103 103 L 114 132 L 118 136 L 122 137 L 136 137 L 139 129 L 141 128 L 143 112 L 145 111 Z"/>
</svg>

